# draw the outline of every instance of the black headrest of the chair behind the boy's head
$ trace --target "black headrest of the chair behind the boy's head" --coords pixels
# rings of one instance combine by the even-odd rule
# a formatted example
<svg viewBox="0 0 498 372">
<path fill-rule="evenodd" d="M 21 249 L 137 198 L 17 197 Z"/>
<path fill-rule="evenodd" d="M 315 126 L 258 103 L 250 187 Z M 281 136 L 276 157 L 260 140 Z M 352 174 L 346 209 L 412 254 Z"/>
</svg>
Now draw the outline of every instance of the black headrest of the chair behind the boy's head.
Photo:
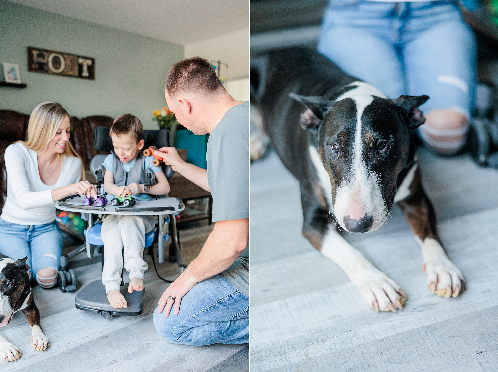
<svg viewBox="0 0 498 372">
<path fill-rule="evenodd" d="M 105 126 L 98 126 L 95 128 L 95 140 L 94 147 L 99 151 L 111 152 L 113 150 L 113 141 L 109 136 L 111 128 Z M 167 129 L 144 129 L 143 139 L 145 141 L 144 149 L 149 146 L 155 146 L 158 149 L 161 147 L 169 147 L 169 130 Z M 174 175 L 174 171 L 170 166 L 166 166 L 161 162 L 162 171 L 166 175 L 166 178 L 170 179 Z"/>
</svg>

